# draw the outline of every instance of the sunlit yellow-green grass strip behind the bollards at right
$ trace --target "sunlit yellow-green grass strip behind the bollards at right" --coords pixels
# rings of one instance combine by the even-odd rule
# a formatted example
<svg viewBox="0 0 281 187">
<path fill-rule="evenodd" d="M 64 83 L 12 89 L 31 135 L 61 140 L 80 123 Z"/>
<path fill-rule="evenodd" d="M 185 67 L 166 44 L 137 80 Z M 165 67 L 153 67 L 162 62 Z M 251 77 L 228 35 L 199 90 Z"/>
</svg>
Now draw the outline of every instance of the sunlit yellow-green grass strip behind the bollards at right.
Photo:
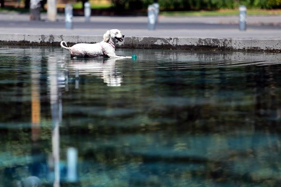
<svg viewBox="0 0 281 187">
<path fill-rule="evenodd" d="M 160 11 L 160 15 L 167 16 L 227 16 L 238 14 L 238 9 L 225 9 L 217 11 Z M 248 9 L 247 15 L 281 15 L 281 9 Z"/>
</svg>

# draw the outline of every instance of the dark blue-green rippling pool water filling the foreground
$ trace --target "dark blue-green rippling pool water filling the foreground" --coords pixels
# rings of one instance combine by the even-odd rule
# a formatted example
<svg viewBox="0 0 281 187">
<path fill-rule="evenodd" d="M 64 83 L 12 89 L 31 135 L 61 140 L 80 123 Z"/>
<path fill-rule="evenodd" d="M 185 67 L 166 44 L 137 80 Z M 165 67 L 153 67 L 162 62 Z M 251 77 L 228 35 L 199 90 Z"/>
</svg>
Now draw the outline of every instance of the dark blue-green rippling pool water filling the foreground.
<svg viewBox="0 0 281 187">
<path fill-rule="evenodd" d="M 116 53 L 0 46 L 1 187 L 279 186 L 280 54 Z"/>
</svg>

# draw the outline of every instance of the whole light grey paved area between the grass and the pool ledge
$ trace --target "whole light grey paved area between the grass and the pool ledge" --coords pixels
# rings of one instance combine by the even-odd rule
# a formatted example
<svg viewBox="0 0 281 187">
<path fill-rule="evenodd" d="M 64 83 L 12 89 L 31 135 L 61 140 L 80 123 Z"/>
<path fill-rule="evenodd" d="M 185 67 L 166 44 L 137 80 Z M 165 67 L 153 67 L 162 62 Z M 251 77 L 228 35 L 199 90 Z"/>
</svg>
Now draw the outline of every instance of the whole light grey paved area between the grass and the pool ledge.
<svg viewBox="0 0 281 187">
<path fill-rule="evenodd" d="M 0 14 L 0 33 L 102 35 L 118 28 L 129 36 L 152 37 L 281 37 L 281 15 L 249 16 L 247 31 L 238 30 L 238 16 L 165 17 L 159 18 L 156 30 L 147 30 L 147 17 L 93 16 L 90 23 L 83 17 L 73 18 L 73 29 L 67 30 L 64 15 L 57 22 L 29 21 L 27 14 Z"/>
</svg>

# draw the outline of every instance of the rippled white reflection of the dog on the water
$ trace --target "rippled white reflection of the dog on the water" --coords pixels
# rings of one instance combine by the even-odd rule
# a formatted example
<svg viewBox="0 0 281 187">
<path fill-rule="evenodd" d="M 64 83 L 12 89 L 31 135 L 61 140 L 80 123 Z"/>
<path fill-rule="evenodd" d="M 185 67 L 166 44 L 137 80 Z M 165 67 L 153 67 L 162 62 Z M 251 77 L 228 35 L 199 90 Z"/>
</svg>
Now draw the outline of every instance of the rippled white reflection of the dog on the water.
<svg viewBox="0 0 281 187">
<path fill-rule="evenodd" d="M 107 86 L 121 86 L 123 75 L 115 67 L 116 60 L 118 58 L 74 58 L 71 59 L 68 70 L 75 72 L 78 69 L 79 75 L 100 77 Z"/>
</svg>

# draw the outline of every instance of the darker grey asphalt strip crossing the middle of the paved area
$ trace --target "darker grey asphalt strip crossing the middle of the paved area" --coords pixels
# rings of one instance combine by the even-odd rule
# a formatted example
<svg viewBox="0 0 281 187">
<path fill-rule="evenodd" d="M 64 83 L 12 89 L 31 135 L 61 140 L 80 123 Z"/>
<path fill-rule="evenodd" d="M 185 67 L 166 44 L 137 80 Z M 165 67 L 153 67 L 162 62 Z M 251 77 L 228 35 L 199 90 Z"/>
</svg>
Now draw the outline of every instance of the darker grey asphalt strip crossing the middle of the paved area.
<svg viewBox="0 0 281 187">
<path fill-rule="evenodd" d="M 112 20 L 110 22 L 100 22 L 93 20 L 90 23 L 85 22 L 73 22 L 73 26 L 76 29 L 108 29 L 108 28 L 119 28 L 119 29 L 146 29 L 147 22 L 116 22 Z M 2 28 L 53 28 L 53 29 L 64 29 L 64 22 L 45 22 L 45 21 L 0 21 L 0 27 Z M 166 29 L 237 29 L 237 24 L 210 24 L 200 22 L 161 22 L 157 24 L 157 30 Z M 281 26 L 269 26 L 269 25 L 249 25 L 248 29 L 253 30 L 280 30 Z"/>
</svg>

